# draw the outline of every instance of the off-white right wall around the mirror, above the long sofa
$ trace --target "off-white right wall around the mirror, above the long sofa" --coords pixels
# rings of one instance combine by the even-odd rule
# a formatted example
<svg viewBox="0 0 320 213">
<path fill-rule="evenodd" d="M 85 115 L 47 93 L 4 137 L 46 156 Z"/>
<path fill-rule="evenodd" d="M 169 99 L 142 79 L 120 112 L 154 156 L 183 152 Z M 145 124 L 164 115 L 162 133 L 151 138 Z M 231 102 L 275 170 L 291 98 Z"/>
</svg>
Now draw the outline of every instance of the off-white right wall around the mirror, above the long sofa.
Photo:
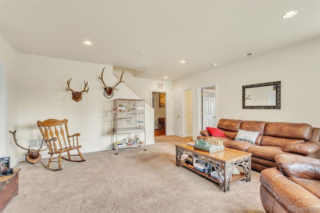
<svg viewBox="0 0 320 213">
<path fill-rule="evenodd" d="M 173 90 L 217 82 L 217 120 L 305 122 L 320 127 L 319 60 L 320 39 L 316 39 L 175 80 Z M 242 109 L 242 85 L 278 80 L 281 109 Z"/>
</svg>

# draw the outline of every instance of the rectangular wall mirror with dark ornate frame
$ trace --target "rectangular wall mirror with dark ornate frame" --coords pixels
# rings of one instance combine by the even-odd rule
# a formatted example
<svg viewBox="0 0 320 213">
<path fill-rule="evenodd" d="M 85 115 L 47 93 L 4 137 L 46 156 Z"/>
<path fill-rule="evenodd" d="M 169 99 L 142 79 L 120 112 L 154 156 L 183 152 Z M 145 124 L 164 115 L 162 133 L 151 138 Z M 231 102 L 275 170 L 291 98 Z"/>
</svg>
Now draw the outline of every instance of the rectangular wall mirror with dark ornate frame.
<svg viewBox="0 0 320 213">
<path fill-rule="evenodd" d="M 242 108 L 279 109 L 281 81 L 242 86 Z"/>
</svg>

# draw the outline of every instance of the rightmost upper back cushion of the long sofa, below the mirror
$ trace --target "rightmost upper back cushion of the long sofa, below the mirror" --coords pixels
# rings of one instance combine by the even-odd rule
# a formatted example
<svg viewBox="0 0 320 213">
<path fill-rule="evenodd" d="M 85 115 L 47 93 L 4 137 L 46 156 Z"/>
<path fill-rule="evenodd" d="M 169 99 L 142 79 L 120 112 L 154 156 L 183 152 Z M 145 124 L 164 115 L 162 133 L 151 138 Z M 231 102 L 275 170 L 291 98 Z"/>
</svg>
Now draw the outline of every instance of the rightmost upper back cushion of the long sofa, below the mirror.
<svg viewBox="0 0 320 213">
<path fill-rule="evenodd" d="M 264 135 L 294 139 L 310 139 L 312 126 L 307 123 L 267 122 Z"/>
</svg>

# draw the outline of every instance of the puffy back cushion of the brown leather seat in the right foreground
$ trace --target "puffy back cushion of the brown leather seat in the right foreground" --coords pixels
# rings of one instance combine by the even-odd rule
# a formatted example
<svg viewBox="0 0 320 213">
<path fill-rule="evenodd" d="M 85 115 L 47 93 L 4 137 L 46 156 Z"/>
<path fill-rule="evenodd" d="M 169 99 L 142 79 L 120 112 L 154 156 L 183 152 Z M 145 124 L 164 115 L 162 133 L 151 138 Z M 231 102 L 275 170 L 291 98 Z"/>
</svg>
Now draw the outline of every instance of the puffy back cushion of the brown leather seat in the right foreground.
<svg viewBox="0 0 320 213">
<path fill-rule="evenodd" d="M 320 180 L 320 159 L 296 154 L 277 154 L 274 160 L 285 176 Z"/>
</svg>

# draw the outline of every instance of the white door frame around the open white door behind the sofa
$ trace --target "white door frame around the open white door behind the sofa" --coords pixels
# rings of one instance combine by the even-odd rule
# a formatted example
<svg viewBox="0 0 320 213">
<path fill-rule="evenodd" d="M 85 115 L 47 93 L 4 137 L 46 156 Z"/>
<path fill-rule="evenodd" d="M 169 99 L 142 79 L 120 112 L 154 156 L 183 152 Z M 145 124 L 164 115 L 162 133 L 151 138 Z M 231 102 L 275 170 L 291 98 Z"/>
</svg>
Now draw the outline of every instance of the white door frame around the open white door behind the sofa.
<svg viewBox="0 0 320 213">
<path fill-rule="evenodd" d="M 214 101 L 214 107 L 215 107 L 215 119 L 218 119 L 218 83 L 214 82 L 214 83 L 209 83 L 209 84 L 203 84 L 203 85 L 198 85 L 196 86 L 196 116 L 195 116 L 195 122 L 196 126 L 193 130 L 193 139 L 196 138 L 197 135 L 199 135 L 199 132 L 202 130 L 202 96 L 201 96 L 201 92 L 202 92 L 202 88 L 207 88 L 207 87 L 212 87 L 214 86 L 215 89 L 215 101 Z M 216 122 L 217 123 L 217 122 Z"/>
</svg>

